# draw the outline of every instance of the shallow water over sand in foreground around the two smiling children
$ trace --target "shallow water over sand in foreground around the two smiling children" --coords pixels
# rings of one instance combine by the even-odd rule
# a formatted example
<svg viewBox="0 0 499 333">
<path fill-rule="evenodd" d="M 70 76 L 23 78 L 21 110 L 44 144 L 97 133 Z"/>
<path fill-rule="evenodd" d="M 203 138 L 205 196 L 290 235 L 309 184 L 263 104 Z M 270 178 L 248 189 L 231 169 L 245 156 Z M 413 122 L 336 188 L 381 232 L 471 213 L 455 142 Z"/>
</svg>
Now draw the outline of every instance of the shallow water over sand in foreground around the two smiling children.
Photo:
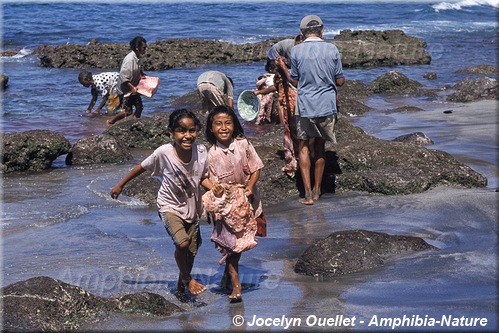
<svg viewBox="0 0 499 333">
<path fill-rule="evenodd" d="M 389 127 L 393 133 L 419 128 L 414 120 L 415 128 L 408 127 L 409 119 L 404 118 L 411 117 L 399 115 Z M 438 133 L 459 126 L 449 121 L 442 130 L 435 123 L 426 126 L 425 133 L 435 139 Z M 484 131 L 463 131 L 462 139 L 469 133 Z M 482 141 L 485 138 L 477 147 Z M 463 150 L 462 156 L 486 166 L 485 174 L 494 179 L 488 155 L 471 148 Z M 137 160 L 141 154 L 137 153 Z M 268 237 L 260 238 L 258 246 L 242 256 L 241 304 L 229 304 L 218 287 L 223 267 L 218 266 L 220 255 L 209 241 L 211 226 L 203 224 L 204 243 L 193 273 L 208 291 L 185 304 L 173 295 L 178 269 L 156 210 L 133 198 L 122 196 L 116 201 L 107 195 L 133 166 L 130 162 L 8 175 L 3 284 L 47 275 L 100 296 L 155 292 L 187 310 L 168 318 L 113 315 L 85 326 L 96 330 L 233 330 L 238 328 L 233 320 L 241 318 L 237 316 L 246 321 L 241 326 L 244 330 L 283 330 L 279 325 L 250 326 L 254 318 L 282 316 L 295 320 L 296 326 L 289 330 L 296 331 L 388 330 L 376 327 L 373 318 L 404 315 L 488 320 L 487 326 L 474 331 L 493 331 L 497 326 L 497 192 L 490 184 L 483 189 L 439 187 L 407 196 L 336 193 L 323 196 L 312 207 L 299 205 L 296 198 L 269 207 L 265 210 Z M 47 210 L 51 213 L 45 216 Z M 439 250 L 401 256 L 377 269 L 325 280 L 294 273 L 294 263 L 315 240 L 351 229 L 419 236 Z M 316 317 L 336 315 L 355 316 L 357 325 L 308 326 Z"/>
</svg>

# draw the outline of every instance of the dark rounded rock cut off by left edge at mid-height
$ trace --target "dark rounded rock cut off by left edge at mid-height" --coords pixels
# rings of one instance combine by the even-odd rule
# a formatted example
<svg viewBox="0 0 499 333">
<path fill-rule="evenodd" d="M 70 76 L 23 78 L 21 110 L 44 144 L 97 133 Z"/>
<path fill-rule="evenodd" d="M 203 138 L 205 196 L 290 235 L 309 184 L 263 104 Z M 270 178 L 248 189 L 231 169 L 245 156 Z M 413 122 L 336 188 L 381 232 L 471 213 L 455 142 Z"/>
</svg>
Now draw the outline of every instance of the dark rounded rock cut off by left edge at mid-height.
<svg viewBox="0 0 499 333">
<path fill-rule="evenodd" d="M 67 154 L 71 144 L 62 135 L 48 130 L 2 134 L 1 171 L 49 169 L 59 156 Z"/>
</svg>

